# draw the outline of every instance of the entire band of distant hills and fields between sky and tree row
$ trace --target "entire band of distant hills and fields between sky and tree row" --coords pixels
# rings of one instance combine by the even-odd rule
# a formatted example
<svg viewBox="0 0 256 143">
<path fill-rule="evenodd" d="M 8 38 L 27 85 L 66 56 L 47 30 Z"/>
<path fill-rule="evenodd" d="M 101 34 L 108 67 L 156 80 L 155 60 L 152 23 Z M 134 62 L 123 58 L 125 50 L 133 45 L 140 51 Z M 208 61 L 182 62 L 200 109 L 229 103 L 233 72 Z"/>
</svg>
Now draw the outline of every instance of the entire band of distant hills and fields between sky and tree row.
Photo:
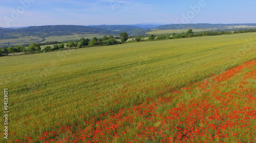
<svg viewBox="0 0 256 143">
<path fill-rule="evenodd" d="M 79 37 L 92 38 L 92 36 L 101 38 L 104 35 L 118 36 L 120 33 L 125 32 L 129 36 L 143 36 L 147 37 L 148 32 L 157 31 L 159 34 L 170 33 L 169 31 L 162 32 L 161 30 L 185 30 L 192 28 L 200 30 L 219 30 L 219 31 L 232 31 L 243 30 L 245 28 L 256 28 L 255 23 L 246 24 L 169 24 L 169 25 L 154 25 L 137 24 L 137 25 L 45 25 L 45 26 L 29 26 L 29 27 L 0 27 L 0 47 L 8 47 L 13 45 L 23 45 L 38 42 L 52 42 L 56 41 L 70 41 L 77 40 Z M 151 28 L 151 29 L 150 29 Z M 155 33 L 155 32 L 153 32 Z M 176 32 L 175 32 L 176 33 Z M 68 37 L 67 37 L 68 36 Z M 70 37 L 69 37 L 70 36 Z M 47 40 L 48 39 L 48 40 Z"/>
</svg>

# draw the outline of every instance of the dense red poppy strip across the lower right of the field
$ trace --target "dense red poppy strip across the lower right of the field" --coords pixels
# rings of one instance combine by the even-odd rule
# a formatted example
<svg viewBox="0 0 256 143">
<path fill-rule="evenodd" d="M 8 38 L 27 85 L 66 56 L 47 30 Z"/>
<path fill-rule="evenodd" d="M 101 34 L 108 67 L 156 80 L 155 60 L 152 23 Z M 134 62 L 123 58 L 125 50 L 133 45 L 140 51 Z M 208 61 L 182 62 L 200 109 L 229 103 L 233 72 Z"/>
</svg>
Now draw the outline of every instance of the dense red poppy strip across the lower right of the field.
<svg viewBox="0 0 256 143">
<path fill-rule="evenodd" d="M 38 135 L 36 140 L 254 142 L 256 141 L 255 80 L 256 60 L 181 89 L 173 91 L 169 91 L 168 88 L 162 89 L 157 94 L 163 96 L 156 99 L 148 98 L 132 108 L 122 108 L 117 112 L 109 111 L 91 117 L 84 121 L 85 126 L 72 124 L 56 131 L 44 132 Z M 68 135 L 59 138 L 58 135 L 63 132 Z M 31 140 L 29 136 L 27 138 Z"/>
</svg>

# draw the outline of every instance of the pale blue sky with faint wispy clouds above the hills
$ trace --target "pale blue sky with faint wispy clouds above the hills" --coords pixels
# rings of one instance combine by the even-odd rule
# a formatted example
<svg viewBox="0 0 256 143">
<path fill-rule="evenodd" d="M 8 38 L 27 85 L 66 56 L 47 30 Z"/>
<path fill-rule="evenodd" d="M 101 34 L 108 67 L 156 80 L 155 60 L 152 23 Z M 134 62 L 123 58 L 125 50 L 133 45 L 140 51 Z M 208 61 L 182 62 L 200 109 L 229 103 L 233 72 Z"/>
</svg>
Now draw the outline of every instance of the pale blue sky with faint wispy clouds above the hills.
<svg viewBox="0 0 256 143">
<path fill-rule="evenodd" d="M 0 27 L 256 23 L 254 0 L 0 0 Z"/>
</svg>

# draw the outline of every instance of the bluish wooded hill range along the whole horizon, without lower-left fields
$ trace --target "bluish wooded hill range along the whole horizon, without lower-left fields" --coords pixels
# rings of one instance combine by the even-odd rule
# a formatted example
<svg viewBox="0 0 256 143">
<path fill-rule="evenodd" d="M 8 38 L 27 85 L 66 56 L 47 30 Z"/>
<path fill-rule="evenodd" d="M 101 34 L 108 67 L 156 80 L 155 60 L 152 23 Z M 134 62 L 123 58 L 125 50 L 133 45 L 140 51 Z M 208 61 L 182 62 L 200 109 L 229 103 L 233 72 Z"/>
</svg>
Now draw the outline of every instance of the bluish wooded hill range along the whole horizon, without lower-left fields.
<svg viewBox="0 0 256 143">
<path fill-rule="evenodd" d="M 134 25 L 46 25 L 46 26 L 29 26 L 15 28 L 1 28 L 0 39 L 15 39 L 24 36 L 37 36 L 40 38 L 50 36 L 63 36 L 74 34 L 99 34 L 99 35 L 114 35 L 117 36 L 121 32 L 126 32 L 130 36 L 144 35 L 150 29 L 158 30 L 175 30 L 182 28 L 224 28 L 228 26 L 246 25 L 256 26 L 255 23 L 246 24 L 134 24 Z"/>
</svg>

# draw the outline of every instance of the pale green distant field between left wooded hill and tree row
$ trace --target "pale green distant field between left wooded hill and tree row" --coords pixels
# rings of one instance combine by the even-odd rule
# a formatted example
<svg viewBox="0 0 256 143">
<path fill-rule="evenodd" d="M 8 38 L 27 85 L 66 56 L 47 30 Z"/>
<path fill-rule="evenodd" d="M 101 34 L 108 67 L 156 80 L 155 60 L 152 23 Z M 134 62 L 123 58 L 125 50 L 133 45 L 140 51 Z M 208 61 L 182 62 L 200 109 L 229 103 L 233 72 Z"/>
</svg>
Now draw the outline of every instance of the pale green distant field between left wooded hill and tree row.
<svg viewBox="0 0 256 143">
<path fill-rule="evenodd" d="M 51 36 L 51 37 L 46 37 L 46 41 L 44 42 L 54 42 L 54 41 L 71 41 L 71 40 L 79 40 L 80 38 L 88 38 L 88 39 L 93 39 L 93 37 L 97 38 L 102 38 L 104 35 L 99 35 L 99 34 L 86 34 L 86 35 L 66 35 L 66 36 Z"/>
</svg>

